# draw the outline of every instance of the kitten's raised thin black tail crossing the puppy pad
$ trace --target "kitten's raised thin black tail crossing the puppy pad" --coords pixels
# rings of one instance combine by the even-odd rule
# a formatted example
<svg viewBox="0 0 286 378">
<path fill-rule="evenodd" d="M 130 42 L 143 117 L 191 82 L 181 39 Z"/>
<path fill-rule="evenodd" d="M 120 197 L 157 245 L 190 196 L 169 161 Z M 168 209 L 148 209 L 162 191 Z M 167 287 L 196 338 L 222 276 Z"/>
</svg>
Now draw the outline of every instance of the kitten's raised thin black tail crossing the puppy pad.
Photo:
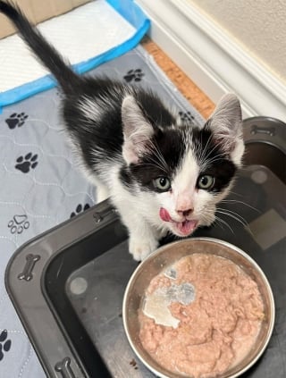
<svg viewBox="0 0 286 378">
<path fill-rule="evenodd" d="M 80 84 L 80 76 L 71 70 L 68 63 L 65 63 L 63 57 L 50 45 L 46 38 L 37 28 L 34 28 L 21 13 L 17 5 L 12 2 L 0 0 L 0 13 L 13 22 L 13 25 L 19 30 L 21 38 L 27 43 L 39 61 L 52 72 L 59 85 L 66 94 L 73 93 L 77 84 Z"/>
</svg>

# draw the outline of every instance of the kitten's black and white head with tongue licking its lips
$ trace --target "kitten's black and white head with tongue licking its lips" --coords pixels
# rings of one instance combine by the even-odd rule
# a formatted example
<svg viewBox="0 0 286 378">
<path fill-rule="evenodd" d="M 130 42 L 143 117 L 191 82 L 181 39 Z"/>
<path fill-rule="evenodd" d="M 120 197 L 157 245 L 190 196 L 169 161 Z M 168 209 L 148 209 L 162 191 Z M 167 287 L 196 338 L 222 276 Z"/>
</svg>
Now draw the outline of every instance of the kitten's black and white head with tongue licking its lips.
<svg viewBox="0 0 286 378">
<path fill-rule="evenodd" d="M 139 211 L 149 222 L 189 236 L 214 222 L 215 205 L 228 194 L 240 167 L 240 102 L 224 96 L 203 128 L 169 115 L 169 124 L 162 124 L 165 113 L 150 115 L 135 97 L 124 99 L 122 180 L 139 197 Z"/>
</svg>

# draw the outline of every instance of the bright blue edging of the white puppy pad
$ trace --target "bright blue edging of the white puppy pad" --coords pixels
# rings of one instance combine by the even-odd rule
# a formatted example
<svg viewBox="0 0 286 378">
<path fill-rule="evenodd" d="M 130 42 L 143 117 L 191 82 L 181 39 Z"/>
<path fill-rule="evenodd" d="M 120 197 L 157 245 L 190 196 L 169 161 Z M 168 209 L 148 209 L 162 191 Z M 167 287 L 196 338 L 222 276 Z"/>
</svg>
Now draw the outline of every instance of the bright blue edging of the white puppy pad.
<svg viewBox="0 0 286 378">
<path fill-rule="evenodd" d="M 150 21 L 133 0 L 106 0 L 106 2 L 110 4 L 117 13 L 120 13 L 126 21 L 129 21 L 136 29 L 136 32 L 121 45 L 115 46 L 101 55 L 88 59 L 88 61 L 74 64 L 72 66 L 73 70 L 78 73 L 89 71 L 96 68 L 99 64 L 108 62 L 117 56 L 127 53 L 130 49 L 139 44 L 139 41 L 144 37 L 150 27 Z M 12 105 L 38 92 L 54 88 L 55 86 L 56 82 L 53 77 L 46 75 L 43 78 L 23 84 L 20 87 L 9 89 L 0 94 L 0 113 L 3 111 L 3 106 Z"/>
</svg>

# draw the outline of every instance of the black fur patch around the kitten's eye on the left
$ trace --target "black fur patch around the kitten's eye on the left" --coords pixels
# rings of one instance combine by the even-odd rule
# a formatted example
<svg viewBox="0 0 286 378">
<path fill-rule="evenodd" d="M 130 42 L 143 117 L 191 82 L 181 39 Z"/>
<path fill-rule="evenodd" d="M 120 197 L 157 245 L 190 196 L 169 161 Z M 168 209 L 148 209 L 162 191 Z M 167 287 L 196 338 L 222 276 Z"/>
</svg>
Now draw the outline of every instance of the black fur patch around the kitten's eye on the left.
<svg viewBox="0 0 286 378">
<path fill-rule="evenodd" d="M 171 128 L 157 130 L 152 144 L 156 148 L 150 147 L 140 158 L 139 164 L 130 164 L 130 167 L 122 168 L 121 180 L 129 188 L 132 188 L 136 181 L 142 190 L 161 192 L 154 185 L 154 180 L 164 176 L 172 181 L 172 176 L 185 152 L 181 132 Z"/>
</svg>

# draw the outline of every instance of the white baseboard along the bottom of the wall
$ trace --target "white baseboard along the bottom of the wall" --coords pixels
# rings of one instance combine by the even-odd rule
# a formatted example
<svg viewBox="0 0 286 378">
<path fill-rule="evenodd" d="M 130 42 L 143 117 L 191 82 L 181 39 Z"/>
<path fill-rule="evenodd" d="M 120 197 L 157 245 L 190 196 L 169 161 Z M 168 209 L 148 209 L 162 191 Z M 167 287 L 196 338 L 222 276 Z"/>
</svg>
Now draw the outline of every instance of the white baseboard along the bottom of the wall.
<svg viewBox="0 0 286 378">
<path fill-rule="evenodd" d="M 243 116 L 286 122 L 286 85 L 186 0 L 136 0 L 151 22 L 150 37 L 214 103 L 240 97 Z"/>
</svg>

